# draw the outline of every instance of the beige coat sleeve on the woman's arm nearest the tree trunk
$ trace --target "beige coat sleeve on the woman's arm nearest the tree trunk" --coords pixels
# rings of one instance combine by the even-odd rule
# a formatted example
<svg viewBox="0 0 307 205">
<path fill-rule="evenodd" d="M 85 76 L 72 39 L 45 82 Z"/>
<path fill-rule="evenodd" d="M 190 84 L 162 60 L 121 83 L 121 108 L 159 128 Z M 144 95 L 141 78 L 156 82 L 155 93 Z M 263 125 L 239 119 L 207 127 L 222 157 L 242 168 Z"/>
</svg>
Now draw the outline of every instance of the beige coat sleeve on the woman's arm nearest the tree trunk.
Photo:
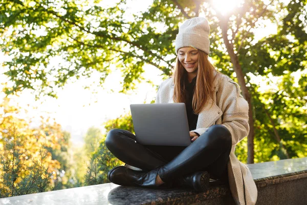
<svg viewBox="0 0 307 205">
<path fill-rule="evenodd" d="M 232 79 L 224 79 L 224 85 L 217 96 L 222 105 L 222 125 L 225 126 L 232 137 L 232 145 L 236 145 L 249 133 L 248 103 L 240 94 L 239 85 Z"/>
</svg>

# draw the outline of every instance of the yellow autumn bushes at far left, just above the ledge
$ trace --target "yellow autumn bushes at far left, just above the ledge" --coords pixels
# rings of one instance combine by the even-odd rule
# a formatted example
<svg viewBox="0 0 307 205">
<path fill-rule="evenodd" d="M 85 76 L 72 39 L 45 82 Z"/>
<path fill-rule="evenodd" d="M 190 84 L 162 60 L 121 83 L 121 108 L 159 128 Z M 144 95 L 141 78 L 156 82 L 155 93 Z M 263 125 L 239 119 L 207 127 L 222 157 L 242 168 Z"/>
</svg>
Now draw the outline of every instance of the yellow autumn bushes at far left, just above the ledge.
<svg viewBox="0 0 307 205">
<path fill-rule="evenodd" d="M 0 196 L 77 186 L 70 134 L 43 117 L 39 128 L 30 128 L 17 117 L 23 109 L 10 105 L 9 98 L 0 107 Z"/>
</svg>

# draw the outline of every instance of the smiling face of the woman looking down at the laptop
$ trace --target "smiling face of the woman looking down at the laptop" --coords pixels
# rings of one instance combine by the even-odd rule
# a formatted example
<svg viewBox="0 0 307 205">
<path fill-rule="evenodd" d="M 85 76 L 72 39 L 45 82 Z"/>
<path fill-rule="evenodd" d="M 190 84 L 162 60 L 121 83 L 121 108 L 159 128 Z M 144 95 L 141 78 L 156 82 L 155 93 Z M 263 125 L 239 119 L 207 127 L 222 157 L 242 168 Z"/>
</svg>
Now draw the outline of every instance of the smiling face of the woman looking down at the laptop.
<svg viewBox="0 0 307 205">
<path fill-rule="evenodd" d="M 198 70 L 198 49 L 192 47 L 183 47 L 178 50 L 178 59 L 188 72 L 189 79 L 196 76 Z"/>
</svg>

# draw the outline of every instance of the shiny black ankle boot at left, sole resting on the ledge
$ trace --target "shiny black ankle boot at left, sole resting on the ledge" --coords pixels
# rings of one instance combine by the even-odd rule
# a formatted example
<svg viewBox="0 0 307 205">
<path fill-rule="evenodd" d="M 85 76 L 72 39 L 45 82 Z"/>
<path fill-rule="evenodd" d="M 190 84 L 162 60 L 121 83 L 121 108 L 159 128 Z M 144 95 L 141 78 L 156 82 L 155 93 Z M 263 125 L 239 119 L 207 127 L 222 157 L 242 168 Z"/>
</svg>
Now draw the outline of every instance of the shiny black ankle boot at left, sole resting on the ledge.
<svg viewBox="0 0 307 205">
<path fill-rule="evenodd" d="M 159 188 L 160 186 L 156 185 L 158 171 L 159 168 L 146 172 L 131 170 L 127 167 L 119 166 L 110 170 L 107 174 L 107 178 L 111 182 L 121 186 Z"/>
</svg>

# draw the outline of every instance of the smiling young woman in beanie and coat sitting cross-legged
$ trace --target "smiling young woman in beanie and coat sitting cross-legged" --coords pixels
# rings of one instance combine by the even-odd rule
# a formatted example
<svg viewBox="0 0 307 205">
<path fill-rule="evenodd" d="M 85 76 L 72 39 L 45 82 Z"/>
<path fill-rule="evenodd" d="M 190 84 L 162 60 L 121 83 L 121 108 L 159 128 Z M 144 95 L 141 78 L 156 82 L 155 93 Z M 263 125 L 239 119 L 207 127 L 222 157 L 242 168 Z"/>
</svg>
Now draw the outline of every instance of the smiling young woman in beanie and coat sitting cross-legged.
<svg viewBox="0 0 307 205">
<path fill-rule="evenodd" d="M 170 187 L 173 183 L 205 191 L 209 177 L 228 180 L 237 204 L 255 204 L 257 189 L 235 145 L 248 135 L 248 104 L 239 86 L 208 60 L 210 27 L 206 18 L 186 20 L 176 37 L 173 76 L 159 87 L 156 103 L 185 103 L 191 141 L 186 148 L 143 146 L 133 133 L 113 129 L 105 144 L 121 161 L 108 179 L 123 186 Z"/>
</svg>

